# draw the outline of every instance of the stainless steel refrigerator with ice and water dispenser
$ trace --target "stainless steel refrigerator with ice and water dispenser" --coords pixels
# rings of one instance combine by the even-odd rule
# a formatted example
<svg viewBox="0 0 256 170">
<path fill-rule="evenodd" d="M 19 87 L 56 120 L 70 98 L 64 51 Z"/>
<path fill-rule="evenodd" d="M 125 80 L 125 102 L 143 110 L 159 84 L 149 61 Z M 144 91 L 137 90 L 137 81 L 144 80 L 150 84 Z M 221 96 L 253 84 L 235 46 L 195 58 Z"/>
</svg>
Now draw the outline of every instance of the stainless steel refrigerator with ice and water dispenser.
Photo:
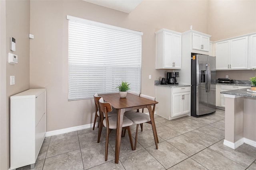
<svg viewBox="0 0 256 170">
<path fill-rule="evenodd" d="M 216 57 L 191 55 L 191 115 L 216 111 Z"/>
</svg>

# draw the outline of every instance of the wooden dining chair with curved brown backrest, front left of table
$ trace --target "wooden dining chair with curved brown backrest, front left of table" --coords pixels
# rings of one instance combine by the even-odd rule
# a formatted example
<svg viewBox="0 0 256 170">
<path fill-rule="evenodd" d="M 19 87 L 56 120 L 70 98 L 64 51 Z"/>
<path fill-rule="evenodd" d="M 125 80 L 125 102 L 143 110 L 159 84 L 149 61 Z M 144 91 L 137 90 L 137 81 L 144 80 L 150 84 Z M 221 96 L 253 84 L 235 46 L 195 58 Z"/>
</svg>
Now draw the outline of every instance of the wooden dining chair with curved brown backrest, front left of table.
<svg viewBox="0 0 256 170">
<path fill-rule="evenodd" d="M 103 114 L 105 114 L 105 118 L 103 120 L 103 123 L 100 123 L 100 129 L 102 129 L 102 125 L 106 127 L 106 151 L 105 151 L 105 161 L 108 160 L 108 136 L 112 129 L 116 129 L 116 120 L 117 115 L 108 117 L 108 113 L 112 111 L 112 106 L 108 102 L 104 102 L 103 98 L 100 98 L 99 100 L 99 106 L 100 106 L 100 116 L 103 117 Z M 134 150 L 133 142 L 132 142 L 132 133 L 130 126 L 132 125 L 132 121 L 128 119 L 127 117 L 123 117 L 123 124 L 122 128 L 127 129 L 129 138 L 130 138 L 130 144 L 132 147 L 132 150 Z"/>
</svg>

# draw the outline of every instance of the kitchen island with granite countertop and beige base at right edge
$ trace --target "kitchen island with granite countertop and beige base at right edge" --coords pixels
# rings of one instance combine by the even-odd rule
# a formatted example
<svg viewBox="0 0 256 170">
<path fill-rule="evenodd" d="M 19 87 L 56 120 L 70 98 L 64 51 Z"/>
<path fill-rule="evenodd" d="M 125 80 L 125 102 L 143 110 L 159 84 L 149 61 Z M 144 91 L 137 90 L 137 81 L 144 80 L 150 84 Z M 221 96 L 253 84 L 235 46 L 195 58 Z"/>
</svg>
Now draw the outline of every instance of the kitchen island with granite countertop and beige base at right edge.
<svg viewBox="0 0 256 170">
<path fill-rule="evenodd" d="M 223 144 L 232 149 L 243 143 L 256 147 L 256 93 L 247 89 L 220 92 L 226 103 Z"/>
</svg>

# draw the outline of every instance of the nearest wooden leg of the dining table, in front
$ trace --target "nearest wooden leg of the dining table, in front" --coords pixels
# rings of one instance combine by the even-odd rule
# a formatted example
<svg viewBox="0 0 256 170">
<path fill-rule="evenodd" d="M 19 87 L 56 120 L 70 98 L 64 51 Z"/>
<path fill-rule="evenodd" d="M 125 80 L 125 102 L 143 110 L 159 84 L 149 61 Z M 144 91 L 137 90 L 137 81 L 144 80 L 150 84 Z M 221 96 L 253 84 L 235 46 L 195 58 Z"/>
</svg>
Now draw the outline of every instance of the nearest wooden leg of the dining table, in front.
<svg viewBox="0 0 256 170">
<path fill-rule="evenodd" d="M 116 153 L 115 153 L 115 163 L 118 164 L 121 135 L 122 135 L 122 125 L 124 118 L 125 109 L 117 109 L 117 120 L 116 120 Z"/>
</svg>

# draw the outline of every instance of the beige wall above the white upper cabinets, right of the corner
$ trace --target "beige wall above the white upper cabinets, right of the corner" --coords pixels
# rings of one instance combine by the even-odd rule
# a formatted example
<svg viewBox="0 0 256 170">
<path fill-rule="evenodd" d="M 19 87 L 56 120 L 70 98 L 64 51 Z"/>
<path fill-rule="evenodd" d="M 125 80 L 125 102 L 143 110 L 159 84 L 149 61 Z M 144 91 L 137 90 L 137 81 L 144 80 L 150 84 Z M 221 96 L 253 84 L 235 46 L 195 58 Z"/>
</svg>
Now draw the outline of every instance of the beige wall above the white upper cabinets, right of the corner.
<svg viewBox="0 0 256 170">
<path fill-rule="evenodd" d="M 211 41 L 256 32 L 256 0 L 211 0 L 208 21 Z"/>
</svg>

